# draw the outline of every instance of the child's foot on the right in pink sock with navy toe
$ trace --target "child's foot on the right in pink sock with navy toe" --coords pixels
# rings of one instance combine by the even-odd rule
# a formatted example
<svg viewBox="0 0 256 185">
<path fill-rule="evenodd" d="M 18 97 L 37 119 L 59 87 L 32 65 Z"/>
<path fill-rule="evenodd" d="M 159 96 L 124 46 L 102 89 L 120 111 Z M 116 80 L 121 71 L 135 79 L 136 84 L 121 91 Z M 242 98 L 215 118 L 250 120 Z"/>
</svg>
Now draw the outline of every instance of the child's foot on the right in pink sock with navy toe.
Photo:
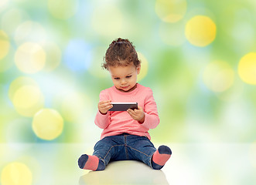
<svg viewBox="0 0 256 185">
<path fill-rule="evenodd" d="M 172 155 L 172 150 L 169 149 L 168 146 L 159 146 L 159 149 L 155 151 L 152 156 L 152 167 L 155 170 L 160 170 L 169 160 Z"/>
</svg>

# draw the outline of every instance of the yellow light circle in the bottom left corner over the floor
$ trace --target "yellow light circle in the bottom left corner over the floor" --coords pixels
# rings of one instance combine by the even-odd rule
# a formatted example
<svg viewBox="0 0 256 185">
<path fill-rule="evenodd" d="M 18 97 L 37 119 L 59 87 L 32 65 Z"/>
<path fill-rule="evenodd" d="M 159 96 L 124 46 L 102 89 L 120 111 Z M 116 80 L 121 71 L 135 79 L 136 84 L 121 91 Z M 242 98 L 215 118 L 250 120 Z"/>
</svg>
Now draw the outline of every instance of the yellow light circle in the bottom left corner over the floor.
<svg viewBox="0 0 256 185">
<path fill-rule="evenodd" d="M 32 172 L 24 163 L 12 162 L 1 173 L 2 185 L 31 185 Z"/>
</svg>

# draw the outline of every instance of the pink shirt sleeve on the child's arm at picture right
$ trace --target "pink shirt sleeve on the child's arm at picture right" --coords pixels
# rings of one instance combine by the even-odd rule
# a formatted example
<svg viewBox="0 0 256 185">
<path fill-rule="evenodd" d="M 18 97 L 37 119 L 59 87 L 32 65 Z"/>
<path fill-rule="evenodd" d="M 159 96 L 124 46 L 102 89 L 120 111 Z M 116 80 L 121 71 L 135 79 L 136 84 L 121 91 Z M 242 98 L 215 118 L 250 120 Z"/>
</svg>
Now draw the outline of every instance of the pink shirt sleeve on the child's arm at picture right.
<svg viewBox="0 0 256 185">
<path fill-rule="evenodd" d="M 159 125 L 160 119 L 152 89 L 148 89 L 148 96 L 146 96 L 144 105 L 145 121 L 142 123 L 142 126 L 148 129 L 155 129 Z"/>
</svg>

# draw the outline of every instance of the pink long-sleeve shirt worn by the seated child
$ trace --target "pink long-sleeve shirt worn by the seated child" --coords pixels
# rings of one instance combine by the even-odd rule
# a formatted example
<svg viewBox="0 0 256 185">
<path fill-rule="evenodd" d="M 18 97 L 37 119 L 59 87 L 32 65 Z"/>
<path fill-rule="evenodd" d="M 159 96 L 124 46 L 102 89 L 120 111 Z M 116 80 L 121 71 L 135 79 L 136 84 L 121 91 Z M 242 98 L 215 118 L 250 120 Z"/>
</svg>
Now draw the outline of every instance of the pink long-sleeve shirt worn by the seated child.
<svg viewBox="0 0 256 185">
<path fill-rule="evenodd" d="M 100 93 L 100 102 L 106 100 L 111 100 L 113 103 L 138 103 L 138 106 L 144 109 L 145 121 L 144 123 L 138 123 L 126 111 L 108 111 L 107 114 L 101 114 L 98 110 L 94 122 L 103 129 L 101 139 L 106 136 L 129 133 L 137 136 L 146 136 L 151 140 L 148 130 L 155 129 L 159 125 L 159 115 L 152 89 L 137 83 L 136 89 L 124 93 L 112 86 Z"/>
</svg>

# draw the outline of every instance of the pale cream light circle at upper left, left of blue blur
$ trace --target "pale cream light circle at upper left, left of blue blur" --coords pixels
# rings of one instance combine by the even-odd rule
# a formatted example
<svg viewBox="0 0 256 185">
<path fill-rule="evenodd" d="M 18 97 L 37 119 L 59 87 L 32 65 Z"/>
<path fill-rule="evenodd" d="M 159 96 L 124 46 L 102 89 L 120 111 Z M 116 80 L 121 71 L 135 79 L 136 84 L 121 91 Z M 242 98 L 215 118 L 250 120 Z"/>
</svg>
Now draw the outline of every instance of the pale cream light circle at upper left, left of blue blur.
<svg viewBox="0 0 256 185">
<path fill-rule="evenodd" d="M 36 73 L 43 69 L 46 62 L 46 53 L 36 43 L 26 42 L 15 52 L 15 65 L 25 73 Z"/>
</svg>

